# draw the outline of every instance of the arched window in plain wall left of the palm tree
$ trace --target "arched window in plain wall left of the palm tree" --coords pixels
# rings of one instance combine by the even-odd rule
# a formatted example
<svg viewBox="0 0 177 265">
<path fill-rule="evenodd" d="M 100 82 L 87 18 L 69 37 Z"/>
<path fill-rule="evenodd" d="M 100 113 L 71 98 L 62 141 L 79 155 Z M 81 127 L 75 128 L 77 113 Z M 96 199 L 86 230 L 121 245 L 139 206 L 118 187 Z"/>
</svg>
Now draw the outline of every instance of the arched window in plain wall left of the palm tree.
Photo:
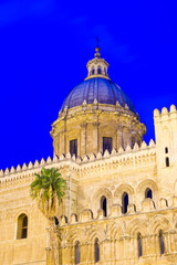
<svg viewBox="0 0 177 265">
<path fill-rule="evenodd" d="M 28 216 L 22 213 L 18 218 L 17 240 L 27 239 L 28 235 Z"/>
</svg>

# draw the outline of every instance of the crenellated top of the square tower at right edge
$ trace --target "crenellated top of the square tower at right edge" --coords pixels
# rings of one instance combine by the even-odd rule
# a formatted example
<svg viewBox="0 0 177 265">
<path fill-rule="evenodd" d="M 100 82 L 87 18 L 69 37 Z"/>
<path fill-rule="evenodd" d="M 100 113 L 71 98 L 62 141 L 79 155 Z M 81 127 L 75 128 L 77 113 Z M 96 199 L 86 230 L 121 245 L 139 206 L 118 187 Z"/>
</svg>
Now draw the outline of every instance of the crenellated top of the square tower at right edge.
<svg viewBox="0 0 177 265">
<path fill-rule="evenodd" d="M 155 121 L 158 119 L 163 119 L 163 118 L 169 118 L 169 117 L 176 117 L 177 118 L 177 109 L 175 105 L 170 105 L 169 112 L 166 107 L 162 108 L 162 112 L 159 112 L 157 108 L 154 109 L 154 119 Z"/>
</svg>

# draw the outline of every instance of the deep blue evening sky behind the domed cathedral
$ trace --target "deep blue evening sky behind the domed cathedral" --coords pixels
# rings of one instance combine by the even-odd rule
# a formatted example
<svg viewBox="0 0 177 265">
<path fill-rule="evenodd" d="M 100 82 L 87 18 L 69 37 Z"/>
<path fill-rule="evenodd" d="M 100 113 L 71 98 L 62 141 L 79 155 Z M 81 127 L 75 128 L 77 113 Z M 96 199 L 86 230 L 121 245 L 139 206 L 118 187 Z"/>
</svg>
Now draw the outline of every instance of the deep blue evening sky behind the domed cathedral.
<svg viewBox="0 0 177 265">
<path fill-rule="evenodd" d="M 51 124 L 85 78 L 96 35 L 110 77 L 154 139 L 154 108 L 177 105 L 175 2 L 2 0 L 0 168 L 53 156 Z"/>
</svg>

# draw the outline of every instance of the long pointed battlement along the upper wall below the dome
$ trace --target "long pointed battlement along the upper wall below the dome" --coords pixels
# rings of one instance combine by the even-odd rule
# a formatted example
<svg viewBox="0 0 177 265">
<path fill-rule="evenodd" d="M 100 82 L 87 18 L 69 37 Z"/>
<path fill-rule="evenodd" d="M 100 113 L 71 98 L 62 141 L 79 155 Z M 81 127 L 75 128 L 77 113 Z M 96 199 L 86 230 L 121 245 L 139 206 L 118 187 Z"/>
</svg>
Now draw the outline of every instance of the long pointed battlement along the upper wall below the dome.
<svg viewBox="0 0 177 265">
<path fill-rule="evenodd" d="M 135 166 L 137 163 L 139 166 L 144 165 L 146 162 L 146 159 L 150 161 L 149 157 L 154 157 L 156 155 L 155 147 L 156 145 L 152 139 L 148 146 L 145 141 L 143 141 L 140 147 L 138 147 L 137 144 L 135 144 L 134 148 L 128 145 L 125 150 L 121 147 L 118 151 L 113 149 L 111 153 L 105 150 L 104 153 L 97 152 L 96 155 L 91 153 L 90 156 L 86 155 L 82 158 L 76 158 L 75 155 L 71 156 L 71 153 L 67 152 L 66 155 L 62 153 L 60 157 L 54 156 L 53 159 L 51 157 L 49 157 L 46 160 L 42 158 L 41 161 L 35 160 L 34 163 L 31 161 L 29 165 L 23 163 L 22 167 L 18 165 L 17 168 L 11 167 L 11 169 L 1 169 L 0 183 L 17 180 L 18 178 L 24 178 L 25 176 L 32 176 L 34 173 L 38 173 L 43 167 L 56 167 L 60 169 L 64 166 L 69 166 L 69 163 L 71 168 L 76 171 L 82 171 L 86 168 L 93 168 L 101 165 L 103 166 L 104 163 L 110 165 L 115 162 L 121 163 L 124 167 L 127 167 L 129 165 Z"/>
</svg>

